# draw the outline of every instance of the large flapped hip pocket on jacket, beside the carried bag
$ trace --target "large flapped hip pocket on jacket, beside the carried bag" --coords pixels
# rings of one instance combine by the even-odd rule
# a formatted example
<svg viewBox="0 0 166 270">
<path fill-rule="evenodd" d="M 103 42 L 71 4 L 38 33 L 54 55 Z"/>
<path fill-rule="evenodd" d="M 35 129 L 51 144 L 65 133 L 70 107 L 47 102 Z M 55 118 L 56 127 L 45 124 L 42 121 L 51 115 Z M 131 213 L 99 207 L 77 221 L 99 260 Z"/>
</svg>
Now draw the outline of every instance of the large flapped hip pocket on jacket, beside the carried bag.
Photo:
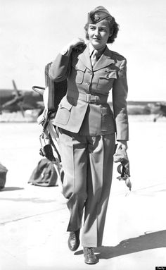
<svg viewBox="0 0 166 270">
<path fill-rule="evenodd" d="M 68 100 L 63 98 L 58 106 L 58 111 L 56 113 L 55 121 L 62 125 L 67 125 L 70 119 L 70 113 L 72 110 L 72 104 L 68 102 Z"/>
</svg>

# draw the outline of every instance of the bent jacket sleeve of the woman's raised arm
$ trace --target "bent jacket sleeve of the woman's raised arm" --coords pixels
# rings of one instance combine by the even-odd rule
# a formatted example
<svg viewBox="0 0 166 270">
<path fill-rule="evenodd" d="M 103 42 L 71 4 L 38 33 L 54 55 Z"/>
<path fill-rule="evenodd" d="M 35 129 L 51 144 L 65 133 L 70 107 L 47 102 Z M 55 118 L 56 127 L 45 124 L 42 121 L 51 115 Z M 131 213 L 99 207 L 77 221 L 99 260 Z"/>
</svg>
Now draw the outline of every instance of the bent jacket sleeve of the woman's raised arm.
<svg viewBox="0 0 166 270">
<path fill-rule="evenodd" d="M 49 76 L 55 82 L 61 82 L 70 72 L 70 56 L 58 54 L 49 68 Z"/>
</svg>

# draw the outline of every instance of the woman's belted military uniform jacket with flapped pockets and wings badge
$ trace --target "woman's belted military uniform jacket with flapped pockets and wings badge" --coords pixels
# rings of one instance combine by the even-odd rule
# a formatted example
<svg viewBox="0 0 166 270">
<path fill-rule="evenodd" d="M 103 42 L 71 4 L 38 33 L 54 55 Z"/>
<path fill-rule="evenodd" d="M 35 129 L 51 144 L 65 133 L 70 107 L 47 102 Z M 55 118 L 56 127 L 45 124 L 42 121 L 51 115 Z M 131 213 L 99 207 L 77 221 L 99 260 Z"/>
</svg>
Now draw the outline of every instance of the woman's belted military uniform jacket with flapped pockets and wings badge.
<svg viewBox="0 0 166 270">
<path fill-rule="evenodd" d="M 49 70 L 56 82 L 68 79 L 67 94 L 61 100 L 53 124 L 82 135 L 116 132 L 117 140 L 128 140 L 126 59 L 108 47 L 91 66 L 89 46 L 58 54 Z M 113 111 L 107 103 L 113 94 Z"/>
</svg>

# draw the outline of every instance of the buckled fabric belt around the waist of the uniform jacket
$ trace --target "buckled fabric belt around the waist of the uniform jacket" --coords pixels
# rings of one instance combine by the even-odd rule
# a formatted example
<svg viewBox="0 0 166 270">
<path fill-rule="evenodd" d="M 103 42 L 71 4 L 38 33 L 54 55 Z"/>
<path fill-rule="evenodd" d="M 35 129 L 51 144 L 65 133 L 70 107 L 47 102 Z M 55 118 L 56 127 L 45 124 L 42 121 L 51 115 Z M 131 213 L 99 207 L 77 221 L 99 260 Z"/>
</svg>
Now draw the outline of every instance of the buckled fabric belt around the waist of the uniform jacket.
<svg viewBox="0 0 166 270">
<path fill-rule="evenodd" d="M 95 96 L 94 94 L 84 94 L 79 93 L 79 96 L 75 94 L 68 94 L 68 97 L 72 97 L 74 99 L 79 99 L 87 103 L 97 103 L 97 104 L 103 104 L 107 102 L 107 96 Z"/>
</svg>

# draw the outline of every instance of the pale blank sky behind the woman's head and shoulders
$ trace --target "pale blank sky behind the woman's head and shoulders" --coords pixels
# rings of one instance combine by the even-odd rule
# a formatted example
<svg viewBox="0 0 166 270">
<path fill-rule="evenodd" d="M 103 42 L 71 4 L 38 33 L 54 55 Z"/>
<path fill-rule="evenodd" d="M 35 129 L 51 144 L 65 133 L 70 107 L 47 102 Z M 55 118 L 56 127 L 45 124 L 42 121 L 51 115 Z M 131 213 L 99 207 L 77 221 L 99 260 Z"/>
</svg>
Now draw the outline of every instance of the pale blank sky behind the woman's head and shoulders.
<svg viewBox="0 0 166 270">
<path fill-rule="evenodd" d="M 0 0 L 0 89 L 44 86 L 44 68 L 84 37 L 87 13 L 104 6 L 120 25 L 109 49 L 127 59 L 131 101 L 166 101 L 166 0 Z"/>
</svg>

